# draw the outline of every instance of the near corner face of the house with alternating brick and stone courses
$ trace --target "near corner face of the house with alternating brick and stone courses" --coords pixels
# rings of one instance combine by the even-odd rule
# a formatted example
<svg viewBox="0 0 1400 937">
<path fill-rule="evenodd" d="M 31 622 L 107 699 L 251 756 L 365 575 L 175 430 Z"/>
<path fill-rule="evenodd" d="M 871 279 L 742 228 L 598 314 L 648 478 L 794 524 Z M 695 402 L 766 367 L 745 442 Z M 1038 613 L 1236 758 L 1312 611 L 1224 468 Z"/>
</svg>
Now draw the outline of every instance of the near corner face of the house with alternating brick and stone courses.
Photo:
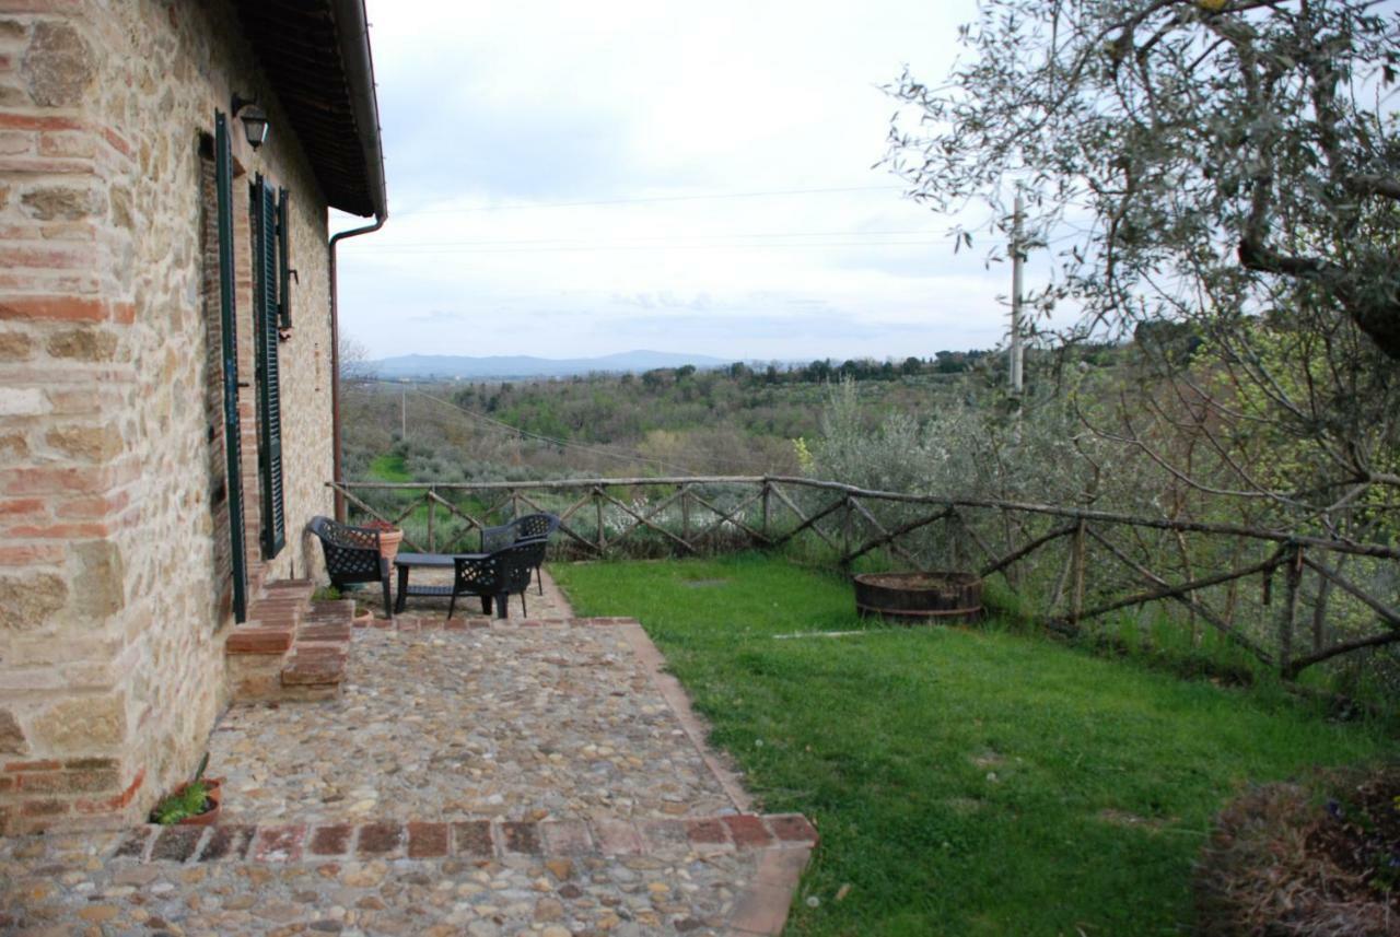
<svg viewBox="0 0 1400 937">
<path fill-rule="evenodd" d="M 87 108 L 77 13 L 0 13 L 0 832 L 122 822 L 146 780 L 115 668 L 141 475 L 112 418 L 137 379 L 104 182 L 126 157 Z"/>
</svg>

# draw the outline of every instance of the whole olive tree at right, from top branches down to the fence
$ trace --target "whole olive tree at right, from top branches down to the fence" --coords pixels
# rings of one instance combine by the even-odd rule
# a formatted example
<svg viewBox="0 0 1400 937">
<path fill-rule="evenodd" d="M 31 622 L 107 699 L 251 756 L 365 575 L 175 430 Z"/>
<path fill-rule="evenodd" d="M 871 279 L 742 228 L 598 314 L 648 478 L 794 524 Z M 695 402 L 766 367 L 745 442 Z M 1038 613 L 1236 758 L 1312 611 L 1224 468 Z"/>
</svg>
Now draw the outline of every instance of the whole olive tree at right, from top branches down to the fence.
<svg viewBox="0 0 1400 937">
<path fill-rule="evenodd" d="M 903 106 L 888 162 L 910 194 L 945 213 L 986 201 L 1002 229 L 1023 194 L 1022 249 L 1054 259 L 1029 296 L 1042 327 L 1058 305 L 1081 313 L 1071 338 L 1162 322 L 1196 337 L 1190 354 L 1140 343 L 1172 390 L 1140 387 L 1175 401 L 1126 396 L 1100 428 L 1201 492 L 1263 499 L 1294 523 L 1337 533 L 1378 487 L 1389 503 L 1394 4 L 986 0 L 963 42 L 946 81 L 906 70 L 889 88 Z M 1182 425 L 1210 450 L 1210 477 L 1163 442 Z M 1287 441 L 1263 453 L 1288 450 L 1287 471 L 1257 470 L 1250 427 Z"/>
</svg>

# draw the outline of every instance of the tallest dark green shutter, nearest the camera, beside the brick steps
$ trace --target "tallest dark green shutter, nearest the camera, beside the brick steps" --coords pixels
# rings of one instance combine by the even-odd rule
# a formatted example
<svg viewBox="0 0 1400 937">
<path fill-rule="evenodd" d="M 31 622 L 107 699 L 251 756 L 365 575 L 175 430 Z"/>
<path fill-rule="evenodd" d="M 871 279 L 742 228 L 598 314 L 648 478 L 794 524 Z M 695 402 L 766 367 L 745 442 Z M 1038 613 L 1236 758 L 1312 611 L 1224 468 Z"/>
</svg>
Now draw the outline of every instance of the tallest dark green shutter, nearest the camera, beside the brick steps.
<svg viewBox="0 0 1400 937">
<path fill-rule="evenodd" d="M 234 621 L 248 620 L 248 555 L 244 552 L 242 429 L 238 424 L 238 333 L 234 315 L 234 157 L 228 120 L 214 112 L 214 187 L 218 190 L 218 313 L 224 354 L 224 456 L 228 536 L 232 541 Z"/>
</svg>

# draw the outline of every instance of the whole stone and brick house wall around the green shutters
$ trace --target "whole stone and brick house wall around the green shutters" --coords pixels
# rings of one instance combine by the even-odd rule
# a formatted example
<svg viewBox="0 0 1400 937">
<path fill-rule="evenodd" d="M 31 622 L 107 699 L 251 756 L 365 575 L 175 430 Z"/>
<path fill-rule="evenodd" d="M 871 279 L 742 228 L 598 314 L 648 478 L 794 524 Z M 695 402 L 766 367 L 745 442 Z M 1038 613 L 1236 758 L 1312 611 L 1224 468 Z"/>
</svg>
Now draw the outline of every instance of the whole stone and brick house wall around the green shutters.
<svg viewBox="0 0 1400 937">
<path fill-rule="evenodd" d="M 253 151 L 231 120 L 256 593 L 319 572 L 301 529 L 332 509 L 326 206 L 307 157 L 223 0 L 0 0 L 3 832 L 143 817 L 193 769 L 227 703 L 202 140 L 207 154 L 235 91 L 272 124 Z M 253 173 L 291 193 L 298 271 L 280 345 L 287 545 L 270 562 L 258 538 Z"/>
</svg>

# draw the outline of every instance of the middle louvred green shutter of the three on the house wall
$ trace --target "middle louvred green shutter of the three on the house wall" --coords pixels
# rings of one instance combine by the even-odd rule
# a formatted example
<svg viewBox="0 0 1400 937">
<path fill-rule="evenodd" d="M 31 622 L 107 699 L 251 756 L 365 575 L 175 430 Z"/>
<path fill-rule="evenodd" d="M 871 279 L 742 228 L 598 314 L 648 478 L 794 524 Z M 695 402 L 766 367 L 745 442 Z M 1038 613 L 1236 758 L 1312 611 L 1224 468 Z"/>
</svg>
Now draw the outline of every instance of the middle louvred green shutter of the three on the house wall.
<svg viewBox="0 0 1400 937">
<path fill-rule="evenodd" d="M 258 470 L 262 478 L 262 550 L 272 559 L 287 544 L 281 481 L 281 372 L 277 364 L 277 199 L 253 182 L 253 303 L 258 330 Z"/>
</svg>

